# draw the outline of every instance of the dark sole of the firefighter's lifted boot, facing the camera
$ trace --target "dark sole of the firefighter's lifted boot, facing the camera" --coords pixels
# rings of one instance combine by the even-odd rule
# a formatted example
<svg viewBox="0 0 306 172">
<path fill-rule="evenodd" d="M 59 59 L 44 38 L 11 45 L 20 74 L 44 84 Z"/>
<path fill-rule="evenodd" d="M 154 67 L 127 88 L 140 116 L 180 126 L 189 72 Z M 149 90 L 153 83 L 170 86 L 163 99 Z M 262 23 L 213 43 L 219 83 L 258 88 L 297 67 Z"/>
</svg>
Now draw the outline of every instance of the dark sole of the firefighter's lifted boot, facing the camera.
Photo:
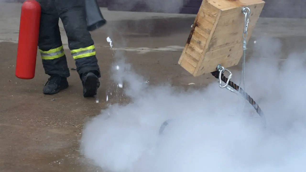
<svg viewBox="0 0 306 172">
<path fill-rule="evenodd" d="M 83 93 L 84 97 L 93 97 L 97 94 L 97 90 L 100 86 L 99 78 L 94 74 L 89 75 L 84 81 L 85 92 Z"/>
</svg>

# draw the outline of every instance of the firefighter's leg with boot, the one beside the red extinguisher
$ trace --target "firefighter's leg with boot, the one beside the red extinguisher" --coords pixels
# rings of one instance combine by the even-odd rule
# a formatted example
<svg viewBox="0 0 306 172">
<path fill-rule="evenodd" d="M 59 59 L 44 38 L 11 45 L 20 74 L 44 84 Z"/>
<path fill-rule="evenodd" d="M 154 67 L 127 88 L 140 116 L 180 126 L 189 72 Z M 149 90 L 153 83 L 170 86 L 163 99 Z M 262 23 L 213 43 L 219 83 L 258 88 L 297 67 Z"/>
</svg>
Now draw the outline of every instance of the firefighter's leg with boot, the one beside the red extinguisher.
<svg viewBox="0 0 306 172">
<path fill-rule="evenodd" d="M 58 26 L 59 17 L 51 1 L 40 2 L 42 6 L 38 48 L 43 61 L 45 73 L 50 75 L 43 88 L 44 94 L 55 94 L 68 87 L 69 69 L 61 41 Z"/>
</svg>

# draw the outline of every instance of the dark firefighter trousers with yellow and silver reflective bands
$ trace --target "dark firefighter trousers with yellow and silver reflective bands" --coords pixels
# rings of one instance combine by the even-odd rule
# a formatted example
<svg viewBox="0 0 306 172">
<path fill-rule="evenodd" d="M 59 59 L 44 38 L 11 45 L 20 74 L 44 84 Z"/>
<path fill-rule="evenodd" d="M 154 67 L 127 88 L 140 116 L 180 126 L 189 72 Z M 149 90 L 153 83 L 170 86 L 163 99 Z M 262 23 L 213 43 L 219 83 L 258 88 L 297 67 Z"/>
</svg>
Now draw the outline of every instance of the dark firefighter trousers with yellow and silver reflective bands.
<svg viewBox="0 0 306 172">
<path fill-rule="evenodd" d="M 68 47 L 80 77 L 87 72 L 93 72 L 100 77 L 94 42 L 87 31 L 84 0 L 38 0 L 38 2 L 41 5 L 38 48 L 45 73 L 62 77 L 70 76 L 58 26 L 61 18 L 68 37 Z"/>
</svg>

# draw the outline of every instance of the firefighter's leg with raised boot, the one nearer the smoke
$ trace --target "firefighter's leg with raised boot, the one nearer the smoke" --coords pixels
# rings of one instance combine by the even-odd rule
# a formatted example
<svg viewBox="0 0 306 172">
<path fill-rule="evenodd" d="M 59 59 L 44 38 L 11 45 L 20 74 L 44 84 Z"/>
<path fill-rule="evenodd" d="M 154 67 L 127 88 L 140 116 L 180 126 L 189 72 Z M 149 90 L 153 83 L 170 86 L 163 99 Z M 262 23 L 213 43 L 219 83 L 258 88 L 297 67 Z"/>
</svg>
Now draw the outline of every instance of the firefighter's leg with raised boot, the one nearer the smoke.
<svg viewBox="0 0 306 172">
<path fill-rule="evenodd" d="M 87 30 L 84 0 L 55 1 L 68 37 L 69 49 L 76 63 L 76 70 L 82 80 L 83 95 L 92 97 L 97 94 L 101 76 L 94 41 Z"/>
</svg>

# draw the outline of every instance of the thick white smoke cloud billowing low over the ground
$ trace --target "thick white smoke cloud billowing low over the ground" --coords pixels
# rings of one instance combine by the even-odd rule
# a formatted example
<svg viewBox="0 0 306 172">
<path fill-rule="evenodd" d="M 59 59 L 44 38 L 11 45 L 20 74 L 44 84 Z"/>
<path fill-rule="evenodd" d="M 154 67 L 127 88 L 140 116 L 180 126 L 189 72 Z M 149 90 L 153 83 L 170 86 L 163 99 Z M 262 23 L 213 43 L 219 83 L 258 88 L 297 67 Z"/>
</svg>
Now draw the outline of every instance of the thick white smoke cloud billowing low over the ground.
<svg viewBox="0 0 306 172">
<path fill-rule="evenodd" d="M 245 87 L 267 119 L 264 128 L 249 103 L 212 83 L 184 91 L 149 86 L 121 60 L 132 103 L 114 104 L 89 121 L 81 150 L 103 170 L 114 172 L 303 171 L 306 158 L 306 53 L 279 59 L 281 42 L 261 38 L 246 64 Z M 116 72 L 115 72 L 116 73 Z M 125 74 L 124 74 L 125 73 Z M 238 82 L 240 72 L 233 72 Z M 237 108 L 239 107 L 239 108 Z M 167 119 L 173 121 L 159 135 Z"/>
</svg>

